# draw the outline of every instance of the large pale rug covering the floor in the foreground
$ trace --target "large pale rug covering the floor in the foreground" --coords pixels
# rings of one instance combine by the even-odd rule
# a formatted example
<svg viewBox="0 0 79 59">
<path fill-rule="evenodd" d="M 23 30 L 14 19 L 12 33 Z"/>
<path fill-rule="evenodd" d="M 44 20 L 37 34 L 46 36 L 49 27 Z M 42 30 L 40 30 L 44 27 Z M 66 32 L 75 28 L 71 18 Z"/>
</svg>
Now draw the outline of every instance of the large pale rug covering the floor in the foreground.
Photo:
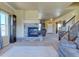
<svg viewBox="0 0 79 59">
<path fill-rule="evenodd" d="M 2 57 L 58 57 L 51 46 L 13 46 Z"/>
</svg>

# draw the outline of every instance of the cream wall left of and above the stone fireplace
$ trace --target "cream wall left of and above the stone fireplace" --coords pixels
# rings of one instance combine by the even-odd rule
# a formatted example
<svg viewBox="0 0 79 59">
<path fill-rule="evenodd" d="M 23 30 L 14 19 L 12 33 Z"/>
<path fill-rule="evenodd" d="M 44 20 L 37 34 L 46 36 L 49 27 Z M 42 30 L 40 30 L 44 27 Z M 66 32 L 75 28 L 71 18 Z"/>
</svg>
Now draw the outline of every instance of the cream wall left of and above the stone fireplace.
<svg viewBox="0 0 79 59">
<path fill-rule="evenodd" d="M 37 11 L 17 10 L 16 37 L 24 38 L 24 23 L 40 23 Z"/>
</svg>

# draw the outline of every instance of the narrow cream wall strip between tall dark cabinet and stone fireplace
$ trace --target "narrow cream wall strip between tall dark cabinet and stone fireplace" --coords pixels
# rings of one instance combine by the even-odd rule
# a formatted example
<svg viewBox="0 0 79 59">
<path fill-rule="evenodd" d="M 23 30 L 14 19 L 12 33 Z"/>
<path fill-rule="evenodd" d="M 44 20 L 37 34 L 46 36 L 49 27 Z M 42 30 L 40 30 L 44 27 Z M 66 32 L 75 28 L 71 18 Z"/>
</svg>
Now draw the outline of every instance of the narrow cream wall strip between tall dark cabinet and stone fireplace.
<svg viewBox="0 0 79 59">
<path fill-rule="evenodd" d="M 17 11 L 17 21 L 16 21 L 16 36 L 17 37 L 23 37 L 23 11 Z"/>
</svg>

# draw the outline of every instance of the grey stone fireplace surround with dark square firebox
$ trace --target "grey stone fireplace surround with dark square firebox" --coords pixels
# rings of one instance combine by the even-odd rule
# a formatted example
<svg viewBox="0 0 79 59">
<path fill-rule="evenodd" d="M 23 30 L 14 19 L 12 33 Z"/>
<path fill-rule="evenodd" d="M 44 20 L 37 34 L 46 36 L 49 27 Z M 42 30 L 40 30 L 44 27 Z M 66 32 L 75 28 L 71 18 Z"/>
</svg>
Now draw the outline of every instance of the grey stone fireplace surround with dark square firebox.
<svg viewBox="0 0 79 59">
<path fill-rule="evenodd" d="M 42 40 L 42 36 L 39 34 L 38 23 L 25 23 L 24 24 L 24 38 L 26 40 Z"/>
</svg>

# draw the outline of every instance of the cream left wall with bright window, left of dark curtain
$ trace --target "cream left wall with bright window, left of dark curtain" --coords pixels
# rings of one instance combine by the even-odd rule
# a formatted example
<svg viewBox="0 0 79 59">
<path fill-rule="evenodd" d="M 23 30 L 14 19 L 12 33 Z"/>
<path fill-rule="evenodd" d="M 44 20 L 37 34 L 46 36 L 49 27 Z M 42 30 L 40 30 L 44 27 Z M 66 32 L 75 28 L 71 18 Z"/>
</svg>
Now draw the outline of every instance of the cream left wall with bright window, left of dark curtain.
<svg viewBox="0 0 79 59">
<path fill-rule="evenodd" d="M 9 43 L 8 16 L 8 13 L 0 11 L 0 48 Z"/>
</svg>

